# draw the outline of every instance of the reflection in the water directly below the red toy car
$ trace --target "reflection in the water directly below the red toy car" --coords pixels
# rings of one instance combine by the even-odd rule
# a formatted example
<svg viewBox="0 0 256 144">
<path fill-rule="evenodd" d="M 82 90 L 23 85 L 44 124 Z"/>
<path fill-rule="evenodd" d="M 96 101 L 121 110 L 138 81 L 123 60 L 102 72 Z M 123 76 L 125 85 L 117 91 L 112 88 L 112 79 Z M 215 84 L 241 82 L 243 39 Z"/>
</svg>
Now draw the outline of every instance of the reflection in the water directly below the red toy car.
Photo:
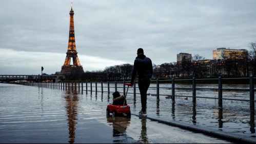
<svg viewBox="0 0 256 144">
<path fill-rule="evenodd" d="M 130 126 L 130 116 L 107 116 L 107 123 L 113 128 L 114 143 L 129 143 L 126 129 Z"/>
</svg>

